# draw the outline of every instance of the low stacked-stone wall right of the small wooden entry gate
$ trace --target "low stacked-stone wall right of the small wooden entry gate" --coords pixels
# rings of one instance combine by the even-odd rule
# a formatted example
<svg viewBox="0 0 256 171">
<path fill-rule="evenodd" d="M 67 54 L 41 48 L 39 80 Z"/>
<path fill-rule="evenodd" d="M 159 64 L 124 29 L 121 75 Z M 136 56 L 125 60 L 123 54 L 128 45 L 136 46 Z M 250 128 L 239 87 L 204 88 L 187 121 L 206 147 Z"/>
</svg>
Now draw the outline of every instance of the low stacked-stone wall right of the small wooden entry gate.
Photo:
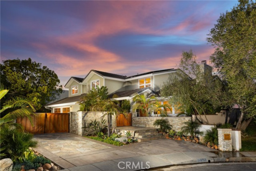
<svg viewBox="0 0 256 171">
<path fill-rule="evenodd" d="M 190 121 L 191 117 L 134 117 L 132 119 L 133 127 L 154 127 L 153 124 L 156 119 L 167 119 L 172 125 L 172 129 L 180 131 L 181 127 L 185 126 L 185 122 Z"/>
</svg>

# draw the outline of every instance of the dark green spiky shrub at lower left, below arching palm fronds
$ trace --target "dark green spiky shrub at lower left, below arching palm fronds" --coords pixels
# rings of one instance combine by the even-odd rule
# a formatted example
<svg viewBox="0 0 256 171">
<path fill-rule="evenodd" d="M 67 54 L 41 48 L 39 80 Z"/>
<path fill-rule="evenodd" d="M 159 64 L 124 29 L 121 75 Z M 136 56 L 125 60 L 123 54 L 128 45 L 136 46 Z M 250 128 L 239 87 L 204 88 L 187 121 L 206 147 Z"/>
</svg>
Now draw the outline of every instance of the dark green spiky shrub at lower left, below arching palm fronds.
<svg viewBox="0 0 256 171">
<path fill-rule="evenodd" d="M 2 145 L 6 147 L 5 154 L 12 161 L 18 159 L 29 147 L 36 147 L 37 141 L 33 134 L 18 129 L 16 125 L 4 124 L 0 130 Z"/>
</svg>

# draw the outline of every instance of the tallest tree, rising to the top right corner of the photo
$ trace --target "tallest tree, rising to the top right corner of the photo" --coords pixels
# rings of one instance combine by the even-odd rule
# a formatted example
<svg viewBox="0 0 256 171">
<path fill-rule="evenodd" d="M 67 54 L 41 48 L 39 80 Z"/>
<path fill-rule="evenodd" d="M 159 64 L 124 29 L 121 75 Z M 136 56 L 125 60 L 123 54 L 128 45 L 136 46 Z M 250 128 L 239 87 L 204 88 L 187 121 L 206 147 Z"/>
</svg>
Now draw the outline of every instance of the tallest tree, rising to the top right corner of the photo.
<svg viewBox="0 0 256 171">
<path fill-rule="evenodd" d="M 256 116 L 256 3 L 239 0 L 221 14 L 208 36 L 215 47 L 211 60 L 241 109 L 236 128 L 244 130 Z"/>
</svg>

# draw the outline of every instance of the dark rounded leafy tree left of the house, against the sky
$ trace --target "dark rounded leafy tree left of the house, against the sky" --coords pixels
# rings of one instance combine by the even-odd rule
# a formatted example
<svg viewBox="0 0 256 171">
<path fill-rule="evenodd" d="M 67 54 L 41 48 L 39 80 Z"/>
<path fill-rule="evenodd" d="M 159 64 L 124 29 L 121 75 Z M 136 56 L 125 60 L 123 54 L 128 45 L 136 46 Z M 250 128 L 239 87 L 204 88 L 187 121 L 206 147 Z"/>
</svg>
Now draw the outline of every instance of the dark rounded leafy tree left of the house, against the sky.
<svg viewBox="0 0 256 171">
<path fill-rule="evenodd" d="M 30 58 L 2 61 L 0 74 L 1 84 L 15 95 L 27 97 L 36 110 L 42 109 L 62 92 L 57 74 Z"/>
</svg>

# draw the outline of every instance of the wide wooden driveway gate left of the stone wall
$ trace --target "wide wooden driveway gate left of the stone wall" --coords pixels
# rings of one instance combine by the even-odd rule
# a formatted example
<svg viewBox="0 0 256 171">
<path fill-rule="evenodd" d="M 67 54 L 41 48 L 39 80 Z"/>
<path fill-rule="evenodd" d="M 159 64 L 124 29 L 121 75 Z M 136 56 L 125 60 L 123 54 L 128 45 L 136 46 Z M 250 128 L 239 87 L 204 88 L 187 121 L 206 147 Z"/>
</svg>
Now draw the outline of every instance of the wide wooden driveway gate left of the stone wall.
<svg viewBox="0 0 256 171">
<path fill-rule="evenodd" d="M 35 113 L 31 120 L 33 125 L 28 117 L 17 118 L 16 122 L 32 134 L 69 132 L 69 113 Z"/>
</svg>

